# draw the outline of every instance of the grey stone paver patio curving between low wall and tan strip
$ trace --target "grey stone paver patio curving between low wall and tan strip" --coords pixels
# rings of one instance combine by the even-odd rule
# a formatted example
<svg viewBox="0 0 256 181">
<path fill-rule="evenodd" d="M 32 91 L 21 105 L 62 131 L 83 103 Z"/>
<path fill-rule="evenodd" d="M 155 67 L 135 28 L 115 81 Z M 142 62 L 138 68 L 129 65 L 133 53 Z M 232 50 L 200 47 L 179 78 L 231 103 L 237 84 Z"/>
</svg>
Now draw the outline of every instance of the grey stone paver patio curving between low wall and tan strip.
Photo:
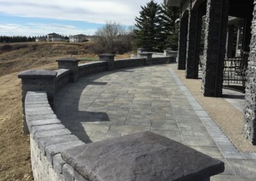
<svg viewBox="0 0 256 181">
<path fill-rule="evenodd" d="M 225 172 L 212 180 L 255 180 L 256 161 L 244 159 L 171 64 L 85 76 L 61 89 L 54 107 L 86 143 L 152 131 L 224 161 Z"/>
</svg>

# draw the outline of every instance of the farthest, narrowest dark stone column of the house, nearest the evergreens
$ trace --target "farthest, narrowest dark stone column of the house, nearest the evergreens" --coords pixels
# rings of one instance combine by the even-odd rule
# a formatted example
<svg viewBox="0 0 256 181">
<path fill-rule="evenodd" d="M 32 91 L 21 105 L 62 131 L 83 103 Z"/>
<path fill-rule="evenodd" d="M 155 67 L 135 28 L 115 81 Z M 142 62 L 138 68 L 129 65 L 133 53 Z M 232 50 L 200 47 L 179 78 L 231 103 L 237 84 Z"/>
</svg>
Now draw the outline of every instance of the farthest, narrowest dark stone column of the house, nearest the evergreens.
<svg viewBox="0 0 256 181">
<path fill-rule="evenodd" d="M 179 30 L 179 50 L 177 56 L 178 69 L 186 68 L 186 45 L 187 45 L 187 34 L 188 34 L 188 16 L 180 15 L 180 30 Z"/>
</svg>

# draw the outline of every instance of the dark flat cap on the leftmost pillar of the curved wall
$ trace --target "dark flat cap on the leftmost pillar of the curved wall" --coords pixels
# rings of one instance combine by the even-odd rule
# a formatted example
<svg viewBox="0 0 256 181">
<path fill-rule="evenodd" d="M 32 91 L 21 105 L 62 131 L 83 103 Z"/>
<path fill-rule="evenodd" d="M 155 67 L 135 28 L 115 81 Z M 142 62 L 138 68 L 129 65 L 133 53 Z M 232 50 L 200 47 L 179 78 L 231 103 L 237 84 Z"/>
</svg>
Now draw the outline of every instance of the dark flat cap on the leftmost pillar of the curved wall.
<svg viewBox="0 0 256 181">
<path fill-rule="evenodd" d="M 18 78 L 55 78 L 56 71 L 48 69 L 29 69 L 19 73 Z"/>
</svg>

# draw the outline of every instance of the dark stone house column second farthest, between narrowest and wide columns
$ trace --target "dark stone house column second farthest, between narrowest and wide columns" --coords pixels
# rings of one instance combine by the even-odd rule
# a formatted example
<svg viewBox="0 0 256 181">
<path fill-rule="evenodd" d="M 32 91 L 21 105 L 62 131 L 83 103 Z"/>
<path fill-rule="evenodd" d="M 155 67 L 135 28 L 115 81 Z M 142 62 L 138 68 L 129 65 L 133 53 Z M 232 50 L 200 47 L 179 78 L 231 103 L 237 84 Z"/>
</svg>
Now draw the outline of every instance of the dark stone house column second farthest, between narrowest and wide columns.
<svg viewBox="0 0 256 181">
<path fill-rule="evenodd" d="M 190 4 L 191 8 L 192 4 Z M 188 38 L 186 49 L 186 78 L 198 78 L 200 40 L 202 29 L 202 10 L 189 10 Z"/>
</svg>

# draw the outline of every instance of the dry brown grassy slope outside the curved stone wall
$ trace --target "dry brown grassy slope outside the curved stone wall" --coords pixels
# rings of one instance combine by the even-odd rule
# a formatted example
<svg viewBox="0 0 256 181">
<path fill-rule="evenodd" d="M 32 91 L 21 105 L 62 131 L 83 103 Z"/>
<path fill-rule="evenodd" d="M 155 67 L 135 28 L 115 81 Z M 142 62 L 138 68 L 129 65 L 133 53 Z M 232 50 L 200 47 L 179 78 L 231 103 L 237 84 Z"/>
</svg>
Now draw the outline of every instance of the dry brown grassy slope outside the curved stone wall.
<svg viewBox="0 0 256 181">
<path fill-rule="evenodd" d="M 70 50 L 76 50 L 79 59 L 96 59 L 97 55 L 86 51 L 87 45 L 28 43 L 28 47 L 4 52 L 1 51 L 3 44 L 0 44 L 0 180 L 33 180 L 29 136 L 22 133 L 21 88 L 17 75 L 31 68 L 56 69 L 55 60 L 70 57 Z M 116 59 L 129 55 L 116 55 Z"/>
</svg>

